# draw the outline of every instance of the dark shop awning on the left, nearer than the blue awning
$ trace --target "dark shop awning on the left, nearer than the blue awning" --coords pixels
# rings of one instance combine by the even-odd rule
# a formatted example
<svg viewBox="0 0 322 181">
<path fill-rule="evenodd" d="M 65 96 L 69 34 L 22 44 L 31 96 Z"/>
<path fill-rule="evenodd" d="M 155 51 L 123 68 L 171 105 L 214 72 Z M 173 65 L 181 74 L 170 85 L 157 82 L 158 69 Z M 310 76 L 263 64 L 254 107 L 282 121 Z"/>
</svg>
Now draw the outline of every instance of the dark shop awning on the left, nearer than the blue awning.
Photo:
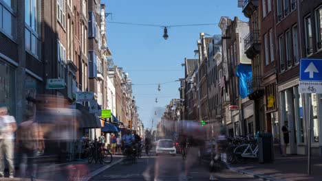
<svg viewBox="0 0 322 181">
<path fill-rule="evenodd" d="M 87 108 L 81 104 L 76 104 L 76 109 L 81 111 L 79 118 L 79 128 L 101 128 L 100 119 L 94 114 L 89 113 Z"/>
</svg>

